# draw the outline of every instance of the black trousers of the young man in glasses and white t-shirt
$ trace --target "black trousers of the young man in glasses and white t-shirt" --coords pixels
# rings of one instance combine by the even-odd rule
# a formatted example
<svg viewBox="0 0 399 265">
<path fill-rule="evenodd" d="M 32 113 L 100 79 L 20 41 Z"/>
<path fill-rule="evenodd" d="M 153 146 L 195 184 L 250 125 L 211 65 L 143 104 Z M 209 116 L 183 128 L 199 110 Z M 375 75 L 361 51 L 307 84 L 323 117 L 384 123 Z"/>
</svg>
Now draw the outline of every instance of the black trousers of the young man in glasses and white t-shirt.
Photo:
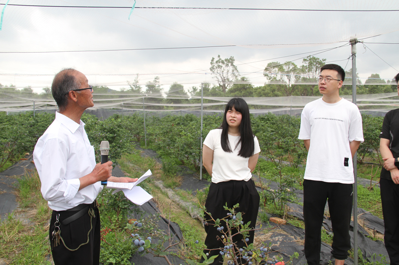
<svg viewBox="0 0 399 265">
<path fill-rule="evenodd" d="M 326 201 L 334 232 L 331 254 L 345 260 L 351 249 L 349 226 L 353 204 L 353 184 L 303 181 L 303 215 L 305 219 L 305 257 L 308 265 L 320 264 L 321 226 Z"/>
</svg>

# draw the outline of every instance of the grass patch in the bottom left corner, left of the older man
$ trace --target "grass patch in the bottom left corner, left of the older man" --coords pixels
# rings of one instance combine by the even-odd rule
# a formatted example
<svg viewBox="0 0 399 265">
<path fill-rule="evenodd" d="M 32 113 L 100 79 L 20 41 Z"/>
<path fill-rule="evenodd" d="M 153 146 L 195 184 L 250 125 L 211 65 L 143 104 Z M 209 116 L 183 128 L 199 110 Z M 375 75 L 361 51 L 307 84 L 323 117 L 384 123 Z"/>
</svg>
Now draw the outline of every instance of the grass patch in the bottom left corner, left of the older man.
<svg viewBox="0 0 399 265">
<path fill-rule="evenodd" d="M 20 208 L 0 224 L 0 258 L 9 264 L 50 264 L 47 220 L 50 211 L 41 197 L 40 180 L 35 171 L 18 180 Z M 31 223 L 22 221 L 29 218 Z"/>
</svg>

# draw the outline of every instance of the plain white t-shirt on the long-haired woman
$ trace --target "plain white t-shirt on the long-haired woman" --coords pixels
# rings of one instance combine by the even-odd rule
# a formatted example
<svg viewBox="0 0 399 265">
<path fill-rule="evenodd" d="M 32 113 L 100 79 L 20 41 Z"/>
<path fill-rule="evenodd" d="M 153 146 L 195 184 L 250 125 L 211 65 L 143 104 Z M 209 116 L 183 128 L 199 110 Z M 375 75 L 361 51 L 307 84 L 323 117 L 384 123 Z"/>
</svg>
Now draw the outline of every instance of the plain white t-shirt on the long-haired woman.
<svg viewBox="0 0 399 265">
<path fill-rule="evenodd" d="M 213 150 L 213 166 L 212 166 L 212 182 L 218 183 L 229 180 L 244 180 L 251 179 L 252 174 L 248 168 L 249 158 L 244 158 L 238 155 L 241 148 L 241 143 L 235 148 L 235 145 L 240 139 L 240 136 L 228 135 L 228 142 L 232 153 L 224 152 L 220 143 L 221 129 L 211 130 L 206 136 L 203 144 Z M 260 152 L 259 142 L 256 136 L 253 137 L 254 152 Z M 235 149 L 234 149 L 235 148 Z"/>
</svg>

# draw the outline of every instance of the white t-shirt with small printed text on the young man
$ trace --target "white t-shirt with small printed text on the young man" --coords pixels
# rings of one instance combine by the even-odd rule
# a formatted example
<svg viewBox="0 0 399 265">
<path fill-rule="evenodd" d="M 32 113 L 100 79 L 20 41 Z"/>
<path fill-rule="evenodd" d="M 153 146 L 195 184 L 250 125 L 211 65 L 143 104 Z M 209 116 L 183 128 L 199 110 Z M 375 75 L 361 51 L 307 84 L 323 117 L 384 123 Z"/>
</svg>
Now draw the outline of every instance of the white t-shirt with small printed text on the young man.
<svg viewBox="0 0 399 265">
<path fill-rule="evenodd" d="M 355 104 L 344 98 L 333 104 L 322 98 L 306 104 L 298 139 L 310 139 L 305 179 L 354 183 L 349 143 L 364 141 L 362 116 Z"/>
</svg>

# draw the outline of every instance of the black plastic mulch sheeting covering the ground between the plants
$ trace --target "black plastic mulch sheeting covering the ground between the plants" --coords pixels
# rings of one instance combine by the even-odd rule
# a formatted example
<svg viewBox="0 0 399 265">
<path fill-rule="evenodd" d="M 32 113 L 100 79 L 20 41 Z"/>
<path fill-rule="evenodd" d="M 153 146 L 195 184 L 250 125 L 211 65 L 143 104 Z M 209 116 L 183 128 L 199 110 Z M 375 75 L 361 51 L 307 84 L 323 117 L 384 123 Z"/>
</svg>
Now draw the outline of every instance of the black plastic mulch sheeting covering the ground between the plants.
<svg viewBox="0 0 399 265">
<path fill-rule="evenodd" d="M 149 149 L 144 149 L 144 153 L 142 153 L 142 156 L 146 157 L 152 157 L 155 158 L 158 162 L 162 162 L 159 159 L 159 156 L 156 152 L 149 150 Z M 26 161 L 19 161 L 16 163 L 14 166 L 11 168 L 7 169 L 6 171 L 0 173 L 0 216 L 1 219 L 3 219 L 8 213 L 12 212 L 16 207 L 17 204 L 15 202 L 15 195 L 14 195 L 14 186 L 17 184 L 17 179 L 18 177 L 15 176 L 21 176 L 25 173 L 25 170 L 31 170 L 34 169 L 34 164 L 31 163 L 32 161 L 32 155 L 30 154 L 28 157 L 28 160 Z M 179 187 L 180 189 L 188 190 L 191 191 L 192 193 L 196 193 L 197 190 L 201 190 L 207 185 L 209 185 L 209 181 L 206 180 L 199 180 L 198 174 L 195 174 L 193 172 L 190 172 L 187 170 L 187 168 L 180 174 L 183 177 L 182 185 Z M 116 167 L 113 171 L 113 176 L 116 177 L 123 177 L 124 174 L 120 170 L 120 168 Z M 253 176 L 254 179 L 258 179 L 257 176 Z M 259 179 L 258 179 L 259 180 Z M 261 187 L 257 187 L 258 190 L 262 189 L 277 189 L 278 183 L 276 182 L 268 182 L 265 181 L 264 179 L 260 179 L 264 184 L 262 184 Z M 362 180 L 359 181 L 361 183 L 370 183 L 370 180 Z M 301 190 L 296 190 L 295 191 L 299 201 L 303 201 L 303 192 Z M 301 220 L 303 220 L 303 210 L 302 206 L 295 204 L 295 203 L 289 203 L 288 206 L 290 207 L 291 211 L 288 213 L 292 216 L 295 216 Z M 155 203 L 151 200 L 142 206 L 136 206 L 138 209 L 141 211 L 145 212 L 146 214 L 157 214 L 158 209 L 155 205 Z M 135 211 L 133 211 L 135 212 Z M 384 233 L 384 221 L 374 215 L 372 215 L 369 212 L 366 212 L 365 210 L 359 208 L 358 209 L 358 214 L 361 214 L 359 216 L 359 222 L 366 225 L 368 228 L 373 229 L 379 233 Z M 140 219 L 142 216 L 133 214 L 133 217 L 136 219 Z M 170 222 L 167 219 L 160 219 L 158 221 L 159 227 L 163 231 L 168 231 L 170 229 L 171 235 L 174 238 L 174 242 L 177 242 L 180 240 L 182 237 L 182 232 L 179 228 L 179 226 L 176 223 Z M 267 227 L 268 224 L 262 224 L 263 227 Z M 294 259 L 293 264 L 306 264 L 306 259 L 303 254 L 303 238 L 304 238 L 304 230 L 295 226 L 292 226 L 290 224 L 286 225 L 280 225 L 278 226 L 281 230 L 272 230 L 270 234 L 268 235 L 268 239 L 264 241 L 264 246 L 269 246 L 269 243 L 271 243 L 271 248 L 272 248 L 272 253 L 269 254 L 269 256 L 273 256 L 275 254 L 280 254 L 285 261 L 289 260 L 289 256 L 293 255 L 295 252 L 299 254 L 299 259 Z M 324 219 L 323 222 L 323 227 L 326 229 L 326 231 L 332 232 L 331 230 L 331 221 L 328 219 Z M 352 223 L 352 230 L 353 230 L 353 223 Z M 284 231 L 284 232 L 282 232 Z M 350 231 L 351 235 L 351 241 L 352 241 L 352 246 L 353 246 L 353 231 Z M 380 261 L 381 258 L 378 256 L 382 254 L 383 256 L 386 257 L 387 262 L 389 262 L 388 254 L 385 249 L 384 243 L 382 241 L 373 241 L 370 238 L 366 237 L 365 235 L 368 235 L 367 231 L 364 230 L 360 225 L 358 225 L 358 246 L 361 249 L 361 252 L 363 253 L 363 256 L 365 259 L 367 259 L 369 262 L 372 262 L 372 260 L 378 260 Z M 145 236 L 145 235 L 143 235 Z M 334 259 L 331 256 L 331 247 L 325 243 L 322 243 L 321 246 L 321 265 L 328 265 L 330 264 L 330 261 L 333 261 Z M 374 255 L 374 257 L 373 257 Z M 173 264 L 186 264 L 183 260 L 179 259 L 176 256 L 169 255 L 168 258 L 170 258 L 171 262 Z M 151 254 L 146 254 L 144 256 L 141 256 L 139 254 L 134 255 L 131 258 L 132 264 L 137 264 L 137 265 L 167 265 L 166 261 L 164 258 L 158 258 L 154 257 Z M 346 264 L 353 264 L 353 261 L 351 259 L 348 259 L 346 261 Z"/>
</svg>

